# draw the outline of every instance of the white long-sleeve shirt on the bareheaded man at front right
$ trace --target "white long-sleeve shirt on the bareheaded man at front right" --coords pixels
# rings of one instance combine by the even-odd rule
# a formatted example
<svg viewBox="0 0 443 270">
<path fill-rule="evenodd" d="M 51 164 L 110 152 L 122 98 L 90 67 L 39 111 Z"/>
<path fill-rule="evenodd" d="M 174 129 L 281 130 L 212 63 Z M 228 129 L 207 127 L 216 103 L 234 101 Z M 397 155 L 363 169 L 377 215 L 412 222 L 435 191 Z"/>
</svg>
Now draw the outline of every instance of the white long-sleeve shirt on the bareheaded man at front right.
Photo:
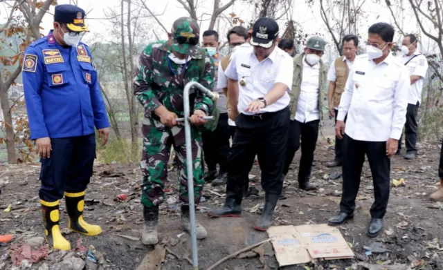
<svg viewBox="0 0 443 270">
<path fill-rule="evenodd" d="M 406 122 L 409 73 L 391 54 L 380 64 L 360 55 L 347 78 L 337 120 L 347 114 L 345 133 L 352 139 L 386 142 L 399 139 Z"/>
</svg>

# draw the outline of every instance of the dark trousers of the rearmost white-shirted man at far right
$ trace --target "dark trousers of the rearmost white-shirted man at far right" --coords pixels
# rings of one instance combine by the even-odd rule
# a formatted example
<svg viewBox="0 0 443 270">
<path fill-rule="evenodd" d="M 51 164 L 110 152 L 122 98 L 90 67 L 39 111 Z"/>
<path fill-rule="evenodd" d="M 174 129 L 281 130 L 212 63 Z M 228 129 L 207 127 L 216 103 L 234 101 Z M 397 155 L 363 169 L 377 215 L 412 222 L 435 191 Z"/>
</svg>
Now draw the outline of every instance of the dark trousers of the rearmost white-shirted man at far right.
<svg viewBox="0 0 443 270">
<path fill-rule="evenodd" d="M 404 124 L 404 134 L 405 134 L 405 145 L 407 153 L 417 153 L 417 137 L 418 137 L 418 123 L 417 114 L 420 104 L 408 104 L 408 109 L 406 110 L 406 124 Z M 401 149 L 401 139 L 403 133 L 399 139 L 399 149 Z"/>
</svg>

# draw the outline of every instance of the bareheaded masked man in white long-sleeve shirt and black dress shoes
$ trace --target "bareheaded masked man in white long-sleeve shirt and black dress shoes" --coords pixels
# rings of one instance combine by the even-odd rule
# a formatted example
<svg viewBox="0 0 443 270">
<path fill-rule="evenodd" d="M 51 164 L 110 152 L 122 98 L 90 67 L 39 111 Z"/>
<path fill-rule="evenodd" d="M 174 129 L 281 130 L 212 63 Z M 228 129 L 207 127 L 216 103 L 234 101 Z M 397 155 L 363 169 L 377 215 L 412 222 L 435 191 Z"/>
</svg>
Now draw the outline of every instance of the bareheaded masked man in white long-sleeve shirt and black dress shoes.
<svg viewBox="0 0 443 270">
<path fill-rule="evenodd" d="M 381 232 L 388 206 L 390 157 L 397 151 L 406 122 L 410 79 L 408 70 L 390 53 L 394 28 L 388 23 L 375 23 L 368 32 L 368 54 L 356 57 L 338 106 L 336 135 L 344 137 L 343 193 L 341 213 L 330 218 L 328 224 L 339 225 L 353 218 L 367 155 L 375 198 L 368 236 L 375 237 Z"/>
</svg>

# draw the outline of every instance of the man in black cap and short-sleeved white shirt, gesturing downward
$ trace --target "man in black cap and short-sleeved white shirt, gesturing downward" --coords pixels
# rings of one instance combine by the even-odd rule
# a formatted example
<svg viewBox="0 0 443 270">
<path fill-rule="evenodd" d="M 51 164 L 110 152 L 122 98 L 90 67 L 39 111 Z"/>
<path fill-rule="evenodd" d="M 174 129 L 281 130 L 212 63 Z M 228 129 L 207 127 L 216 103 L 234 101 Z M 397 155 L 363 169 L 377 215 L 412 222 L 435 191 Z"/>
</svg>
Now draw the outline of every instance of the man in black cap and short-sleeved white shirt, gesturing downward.
<svg viewBox="0 0 443 270">
<path fill-rule="evenodd" d="M 211 217 L 242 214 L 242 188 L 257 155 L 266 192 L 262 216 L 254 228 L 266 231 L 282 191 L 282 170 L 289 131 L 289 95 L 292 58 L 276 46 L 278 24 L 258 19 L 253 26 L 252 47 L 241 46 L 233 54 L 228 77 L 228 112 L 237 128 L 229 158 L 226 201 Z"/>
</svg>

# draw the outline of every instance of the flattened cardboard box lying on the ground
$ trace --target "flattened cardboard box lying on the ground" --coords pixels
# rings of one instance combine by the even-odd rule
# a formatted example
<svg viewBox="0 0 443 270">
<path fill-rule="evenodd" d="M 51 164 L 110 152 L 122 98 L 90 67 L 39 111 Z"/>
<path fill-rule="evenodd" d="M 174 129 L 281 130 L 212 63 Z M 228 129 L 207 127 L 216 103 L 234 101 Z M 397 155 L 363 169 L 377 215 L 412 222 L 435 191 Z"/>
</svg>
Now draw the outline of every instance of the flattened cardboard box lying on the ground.
<svg viewBox="0 0 443 270">
<path fill-rule="evenodd" d="M 327 224 L 301 226 L 273 226 L 268 229 L 275 257 L 284 267 L 317 259 L 338 260 L 353 258 L 341 232 Z"/>
</svg>

